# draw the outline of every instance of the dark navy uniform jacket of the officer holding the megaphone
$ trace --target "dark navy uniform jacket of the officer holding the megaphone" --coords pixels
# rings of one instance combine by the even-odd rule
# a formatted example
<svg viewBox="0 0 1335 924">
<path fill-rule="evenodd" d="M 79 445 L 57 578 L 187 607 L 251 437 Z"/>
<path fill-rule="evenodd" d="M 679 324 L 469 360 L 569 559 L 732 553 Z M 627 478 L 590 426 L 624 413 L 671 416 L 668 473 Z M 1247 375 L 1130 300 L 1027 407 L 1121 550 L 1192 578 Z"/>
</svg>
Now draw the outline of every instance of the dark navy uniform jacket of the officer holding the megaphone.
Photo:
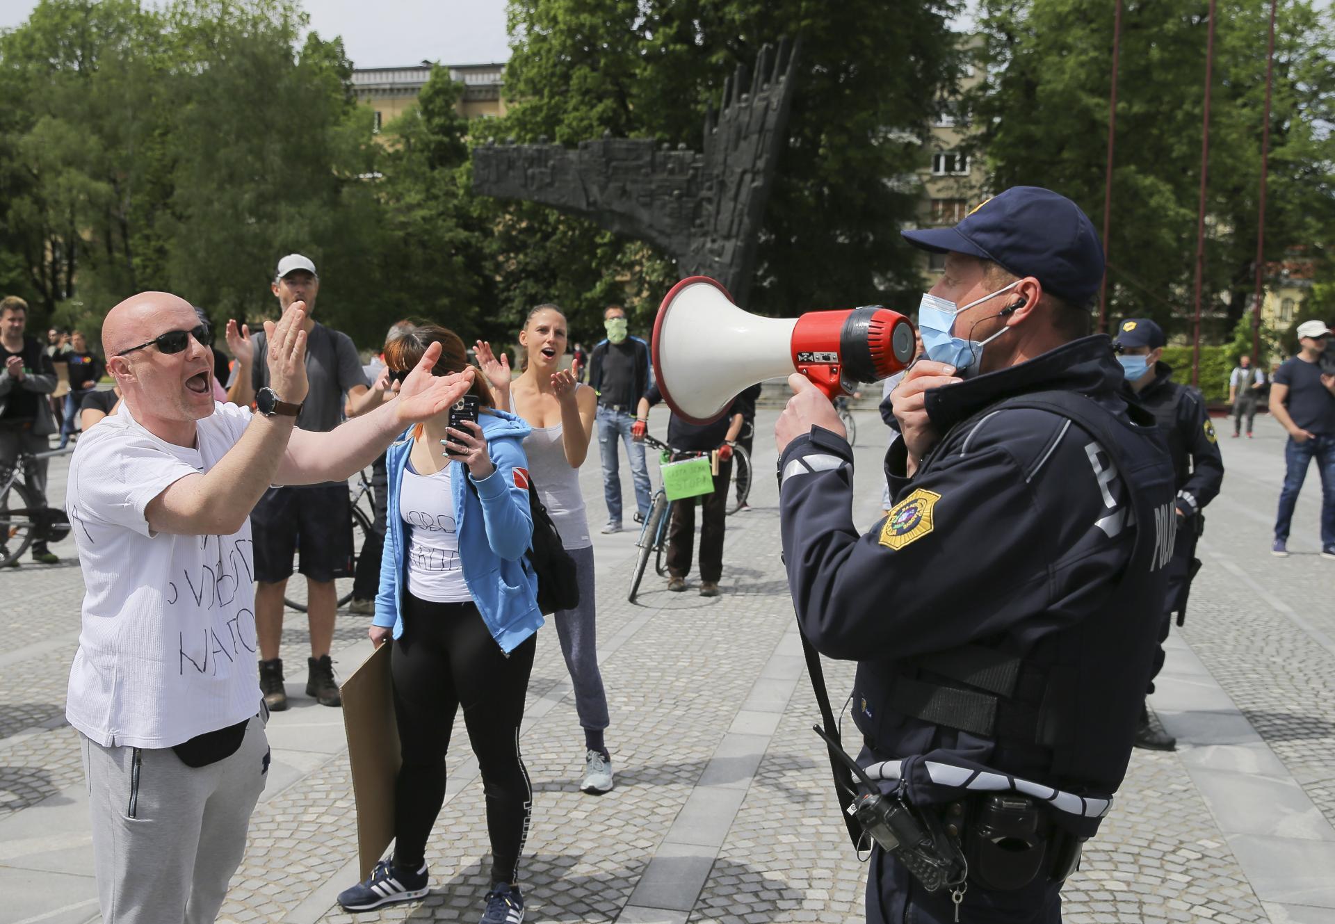
<svg viewBox="0 0 1335 924">
<path fill-rule="evenodd" d="M 1043 395 L 1083 422 L 1024 406 Z M 896 506 L 865 535 L 844 439 L 816 427 L 780 459 L 793 602 L 818 652 L 858 662 L 860 760 L 909 758 L 914 802 L 965 785 L 921 772 L 933 764 L 1111 796 L 1175 527 L 1153 422 L 1101 335 L 933 390 L 926 411 L 941 439 L 913 477 L 892 443 Z"/>
</svg>

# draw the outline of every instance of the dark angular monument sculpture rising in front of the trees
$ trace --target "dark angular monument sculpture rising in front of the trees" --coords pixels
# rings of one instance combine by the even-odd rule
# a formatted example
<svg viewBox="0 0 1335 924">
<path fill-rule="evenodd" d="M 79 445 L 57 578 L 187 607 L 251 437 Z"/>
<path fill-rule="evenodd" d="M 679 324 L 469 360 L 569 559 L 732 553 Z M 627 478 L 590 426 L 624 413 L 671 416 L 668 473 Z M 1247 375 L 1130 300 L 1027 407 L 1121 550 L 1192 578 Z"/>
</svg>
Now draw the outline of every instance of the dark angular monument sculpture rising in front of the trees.
<svg viewBox="0 0 1335 924">
<path fill-rule="evenodd" d="M 764 45 L 724 81 L 722 105 L 705 115 L 702 151 L 650 139 L 603 136 L 574 150 L 489 142 L 473 152 L 473 190 L 583 215 L 615 234 L 647 240 L 682 275 L 724 283 L 745 306 L 756 243 L 796 85 L 797 44 Z"/>
</svg>

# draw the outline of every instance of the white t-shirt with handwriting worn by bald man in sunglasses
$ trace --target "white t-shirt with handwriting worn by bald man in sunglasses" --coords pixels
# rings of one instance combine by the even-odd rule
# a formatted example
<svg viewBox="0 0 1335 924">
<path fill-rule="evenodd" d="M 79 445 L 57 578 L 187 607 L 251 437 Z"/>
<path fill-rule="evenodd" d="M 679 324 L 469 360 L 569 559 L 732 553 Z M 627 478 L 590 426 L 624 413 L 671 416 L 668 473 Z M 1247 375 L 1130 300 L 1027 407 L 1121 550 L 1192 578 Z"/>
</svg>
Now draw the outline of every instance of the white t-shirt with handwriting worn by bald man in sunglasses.
<svg viewBox="0 0 1335 924">
<path fill-rule="evenodd" d="M 171 748 L 259 712 L 250 519 L 232 535 L 168 535 L 144 518 L 171 483 L 215 466 L 250 419 L 215 403 L 188 449 L 121 403 L 75 449 L 65 511 L 84 601 L 65 717 L 100 745 Z"/>
</svg>

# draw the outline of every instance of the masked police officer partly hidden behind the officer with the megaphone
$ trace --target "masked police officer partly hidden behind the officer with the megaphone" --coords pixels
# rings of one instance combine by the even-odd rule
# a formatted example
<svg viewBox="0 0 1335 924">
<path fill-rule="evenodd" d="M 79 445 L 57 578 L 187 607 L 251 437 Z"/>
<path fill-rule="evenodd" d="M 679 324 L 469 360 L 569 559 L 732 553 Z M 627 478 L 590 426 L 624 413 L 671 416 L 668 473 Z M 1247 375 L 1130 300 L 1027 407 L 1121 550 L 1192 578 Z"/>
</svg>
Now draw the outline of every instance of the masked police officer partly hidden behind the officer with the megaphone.
<svg viewBox="0 0 1335 924">
<path fill-rule="evenodd" d="M 1172 614 L 1177 614 L 1177 625 L 1181 625 L 1191 578 L 1200 567 L 1196 541 L 1206 526 L 1202 510 L 1215 499 L 1224 481 L 1224 459 L 1219 454 L 1215 425 L 1206 413 L 1206 399 L 1196 389 L 1172 381 L 1172 366 L 1160 359 L 1165 343 L 1163 328 L 1145 318 L 1128 318 L 1117 328 L 1117 362 L 1136 398 L 1159 422 L 1177 489 L 1177 539 L 1168 562 L 1168 590 L 1159 624 L 1159 649 L 1149 674 L 1149 693 L 1155 692 L 1153 680 L 1164 665 L 1163 644 L 1168 638 Z M 1156 728 L 1149 721 L 1149 710 L 1143 708 L 1136 726 L 1136 746 L 1172 750 L 1176 745 L 1176 738 Z"/>
</svg>

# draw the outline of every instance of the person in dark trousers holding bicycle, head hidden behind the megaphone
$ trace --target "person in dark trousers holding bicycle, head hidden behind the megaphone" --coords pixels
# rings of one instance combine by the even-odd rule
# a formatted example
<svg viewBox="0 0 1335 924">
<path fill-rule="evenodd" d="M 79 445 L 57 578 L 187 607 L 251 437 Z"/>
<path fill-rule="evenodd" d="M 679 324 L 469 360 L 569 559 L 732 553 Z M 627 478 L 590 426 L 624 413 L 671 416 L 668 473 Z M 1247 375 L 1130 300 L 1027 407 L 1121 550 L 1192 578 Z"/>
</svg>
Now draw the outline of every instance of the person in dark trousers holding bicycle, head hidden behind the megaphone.
<svg viewBox="0 0 1335 924">
<path fill-rule="evenodd" d="M 649 391 L 639 399 L 635 409 L 635 423 L 631 437 L 642 442 L 649 431 L 649 409 L 662 401 L 658 383 L 650 383 Z M 714 471 L 714 490 L 705 494 L 700 503 L 704 509 L 700 526 L 700 596 L 717 597 L 718 580 L 724 574 L 724 530 L 728 518 L 728 482 L 732 478 L 733 446 L 742 430 L 742 402 L 733 401 L 728 411 L 714 421 L 698 426 L 686 423 L 676 414 L 668 418 L 668 445 L 673 450 L 673 461 L 692 455 L 718 453 L 718 466 Z M 668 530 L 668 589 L 686 589 L 686 575 L 690 573 L 690 559 L 696 541 L 696 498 L 673 501 L 672 525 Z"/>
</svg>

